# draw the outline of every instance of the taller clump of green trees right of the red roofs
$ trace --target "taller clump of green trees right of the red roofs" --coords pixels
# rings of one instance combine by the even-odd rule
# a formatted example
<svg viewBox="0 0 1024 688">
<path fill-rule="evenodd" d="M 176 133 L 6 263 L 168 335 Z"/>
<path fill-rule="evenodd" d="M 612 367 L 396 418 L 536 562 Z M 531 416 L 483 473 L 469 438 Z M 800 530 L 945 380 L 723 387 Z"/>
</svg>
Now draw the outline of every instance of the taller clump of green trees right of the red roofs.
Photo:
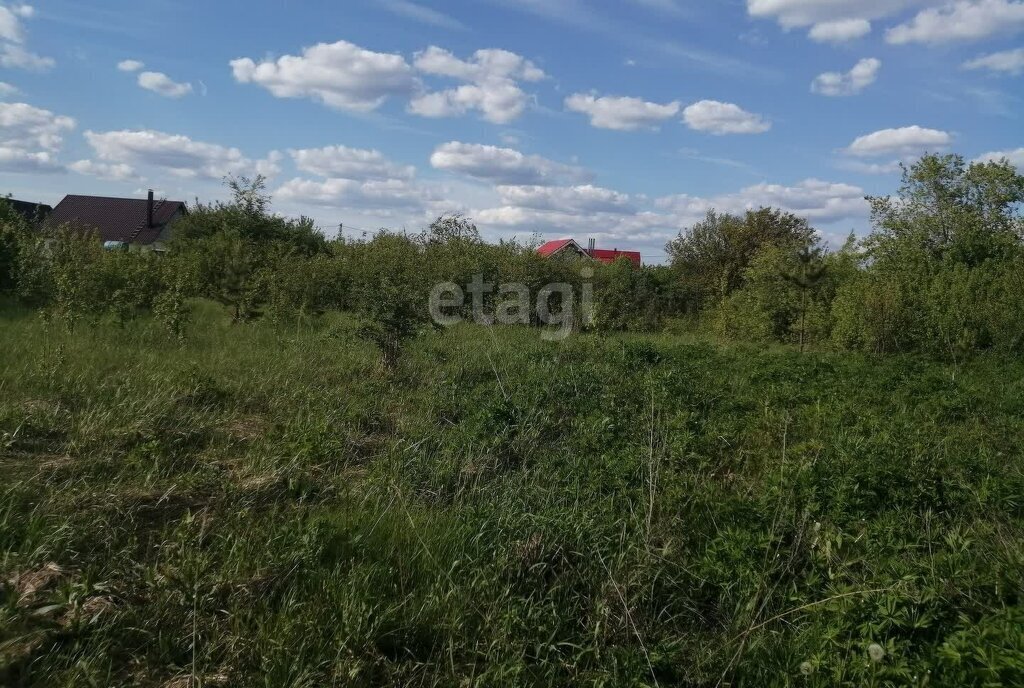
<svg viewBox="0 0 1024 688">
<path fill-rule="evenodd" d="M 755 341 L 956 358 L 1024 345 L 1024 176 L 1007 161 L 926 156 L 871 232 L 829 252 L 772 210 L 710 213 L 669 245 L 702 327 Z"/>
</svg>

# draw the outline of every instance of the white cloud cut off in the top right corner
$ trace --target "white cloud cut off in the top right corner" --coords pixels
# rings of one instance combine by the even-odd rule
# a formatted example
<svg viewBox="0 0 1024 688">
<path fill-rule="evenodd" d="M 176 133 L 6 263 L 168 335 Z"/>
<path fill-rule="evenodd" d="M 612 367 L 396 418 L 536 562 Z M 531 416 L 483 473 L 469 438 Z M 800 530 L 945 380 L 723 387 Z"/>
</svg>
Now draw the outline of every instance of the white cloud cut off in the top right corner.
<svg viewBox="0 0 1024 688">
<path fill-rule="evenodd" d="M 886 32 L 886 40 L 905 43 L 974 41 L 1024 29 L 1024 2 L 957 0 L 922 10 L 910 22 Z"/>
</svg>

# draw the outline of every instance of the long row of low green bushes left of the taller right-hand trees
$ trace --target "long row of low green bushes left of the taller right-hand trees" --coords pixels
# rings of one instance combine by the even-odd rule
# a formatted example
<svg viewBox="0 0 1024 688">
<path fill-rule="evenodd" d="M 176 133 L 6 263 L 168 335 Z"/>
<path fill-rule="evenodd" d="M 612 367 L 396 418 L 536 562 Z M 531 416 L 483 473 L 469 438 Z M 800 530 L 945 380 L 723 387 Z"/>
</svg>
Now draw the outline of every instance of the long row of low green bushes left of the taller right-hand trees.
<svg viewBox="0 0 1024 688">
<path fill-rule="evenodd" d="M 532 297 L 549 285 L 581 295 L 586 284 L 600 295 L 586 327 L 653 330 L 668 312 L 662 303 L 672 290 L 668 267 L 549 260 L 536 244 L 488 244 L 457 215 L 416 233 L 382 229 L 369 241 L 328 240 L 308 218 L 270 213 L 261 178 L 227 183 L 231 201 L 191 208 L 162 255 L 104 250 L 95 235 L 72 226 L 41 230 L 0 204 L 0 293 L 70 328 L 153 313 L 177 337 L 194 298 L 223 304 L 237 322 L 301 324 L 328 310 L 347 311 L 361 318 L 362 335 L 389 360 L 432 325 L 428 300 L 442 283 L 488 283 L 487 312 L 503 299 L 498 285 L 521 285 L 531 296 L 522 319 L 535 326 L 544 318 Z M 459 310 L 473 319 L 471 299 Z M 573 318 L 585 326 L 582 308 Z"/>
</svg>

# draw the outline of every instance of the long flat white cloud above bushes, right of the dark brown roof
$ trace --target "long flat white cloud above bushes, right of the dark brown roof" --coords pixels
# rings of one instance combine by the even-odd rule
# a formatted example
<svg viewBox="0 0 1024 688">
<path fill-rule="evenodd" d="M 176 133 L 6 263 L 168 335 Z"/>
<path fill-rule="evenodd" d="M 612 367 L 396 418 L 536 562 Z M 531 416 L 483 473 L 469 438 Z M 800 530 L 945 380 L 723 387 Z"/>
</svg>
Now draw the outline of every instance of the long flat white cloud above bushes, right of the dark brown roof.
<svg viewBox="0 0 1024 688">
<path fill-rule="evenodd" d="M 152 130 L 85 132 L 85 138 L 100 161 L 146 165 L 179 177 L 220 179 L 228 174 L 270 176 L 280 170 L 280 154 L 264 160 L 246 158 L 238 148 L 195 141 L 180 134 Z"/>
</svg>

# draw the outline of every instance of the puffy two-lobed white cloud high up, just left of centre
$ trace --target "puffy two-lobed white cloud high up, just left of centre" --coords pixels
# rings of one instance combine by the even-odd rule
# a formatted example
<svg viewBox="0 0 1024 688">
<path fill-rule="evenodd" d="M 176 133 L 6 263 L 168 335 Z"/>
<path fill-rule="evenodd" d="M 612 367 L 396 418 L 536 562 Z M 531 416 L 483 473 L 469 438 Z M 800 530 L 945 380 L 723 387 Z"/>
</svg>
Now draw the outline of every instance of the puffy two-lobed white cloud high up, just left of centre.
<svg viewBox="0 0 1024 688">
<path fill-rule="evenodd" d="M 409 111 L 421 117 L 456 117 L 476 110 L 488 122 L 508 124 L 522 115 L 529 102 L 517 82 L 545 78 L 540 68 L 508 50 L 477 50 L 472 59 L 463 60 L 432 45 L 416 54 L 414 64 L 424 74 L 467 82 L 414 97 Z"/>
</svg>

